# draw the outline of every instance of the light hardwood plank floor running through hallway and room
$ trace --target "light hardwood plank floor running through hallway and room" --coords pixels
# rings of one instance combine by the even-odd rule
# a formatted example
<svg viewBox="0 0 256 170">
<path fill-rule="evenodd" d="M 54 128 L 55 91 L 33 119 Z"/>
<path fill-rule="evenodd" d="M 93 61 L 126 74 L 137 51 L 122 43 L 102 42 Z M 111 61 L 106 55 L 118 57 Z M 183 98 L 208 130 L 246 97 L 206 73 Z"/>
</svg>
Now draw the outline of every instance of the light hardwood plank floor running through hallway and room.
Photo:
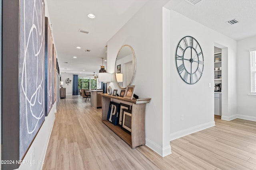
<svg viewBox="0 0 256 170">
<path fill-rule="evenodd" d="M 162 158 L 131 149 L 80 96 L 61 99 L 43 170 L 256 170 L 256 122 L 215 119 L 216 126 L 171 141 Z"/>
</svg>

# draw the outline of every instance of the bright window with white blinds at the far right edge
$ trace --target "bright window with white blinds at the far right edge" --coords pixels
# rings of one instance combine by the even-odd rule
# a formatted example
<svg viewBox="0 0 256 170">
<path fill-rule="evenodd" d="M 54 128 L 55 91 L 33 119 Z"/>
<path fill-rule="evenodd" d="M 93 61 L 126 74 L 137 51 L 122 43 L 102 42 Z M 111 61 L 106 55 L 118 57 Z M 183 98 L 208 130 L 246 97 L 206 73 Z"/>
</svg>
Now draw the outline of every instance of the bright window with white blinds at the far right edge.
<svg viewBox="0 0 256 170">
<path fill-rule="evenodd" d="M 256 93 L 256 49 L 250 51 L 251 60 L 251 93 Z"/>
</svg>

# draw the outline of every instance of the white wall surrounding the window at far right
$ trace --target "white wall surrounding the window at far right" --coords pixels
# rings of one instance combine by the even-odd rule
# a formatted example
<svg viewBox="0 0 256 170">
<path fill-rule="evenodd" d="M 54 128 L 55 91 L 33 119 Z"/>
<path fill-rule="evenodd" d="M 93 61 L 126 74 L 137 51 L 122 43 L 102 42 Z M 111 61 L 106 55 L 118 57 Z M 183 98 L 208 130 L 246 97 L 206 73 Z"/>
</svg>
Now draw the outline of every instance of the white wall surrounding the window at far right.
<svg viewBox="0 0 256 170">
<path fill-rule="evenodd" d="M 256 36 L 237 42 L 237 117 L 256 121 L 256 96 L 250 94 L 250 52 L 256 48 Z"/>
</svg>

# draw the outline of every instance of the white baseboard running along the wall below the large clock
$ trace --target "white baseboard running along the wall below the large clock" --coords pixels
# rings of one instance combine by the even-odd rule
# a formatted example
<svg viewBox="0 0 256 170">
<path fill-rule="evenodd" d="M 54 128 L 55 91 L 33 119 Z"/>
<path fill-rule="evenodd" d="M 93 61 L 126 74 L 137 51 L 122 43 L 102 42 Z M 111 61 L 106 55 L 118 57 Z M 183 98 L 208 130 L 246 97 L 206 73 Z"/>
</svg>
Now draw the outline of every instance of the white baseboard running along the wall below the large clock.
<svg viewBox="0 0 256 170">
<path fill-rule="evenodd" d="M 186 135 L 190 135 L 191 133 L 202 131 L 204 129 L 207 129 L 207 128 L 213 127 L 213 126 L 215 126 L 215 122 L 214 121 L 210 121 L 210 122 L 204 123 L 202 125 L 197 125 L 197 126 L 194 126 L 194 127 L 190 127 L 188 129 L 184 129 L 182 131 L 171 133 L 170 134 L 170 141 L 173 141 L 174 139 L 178 139 L 180 137 L 184 137 Z"/>
</svg>

